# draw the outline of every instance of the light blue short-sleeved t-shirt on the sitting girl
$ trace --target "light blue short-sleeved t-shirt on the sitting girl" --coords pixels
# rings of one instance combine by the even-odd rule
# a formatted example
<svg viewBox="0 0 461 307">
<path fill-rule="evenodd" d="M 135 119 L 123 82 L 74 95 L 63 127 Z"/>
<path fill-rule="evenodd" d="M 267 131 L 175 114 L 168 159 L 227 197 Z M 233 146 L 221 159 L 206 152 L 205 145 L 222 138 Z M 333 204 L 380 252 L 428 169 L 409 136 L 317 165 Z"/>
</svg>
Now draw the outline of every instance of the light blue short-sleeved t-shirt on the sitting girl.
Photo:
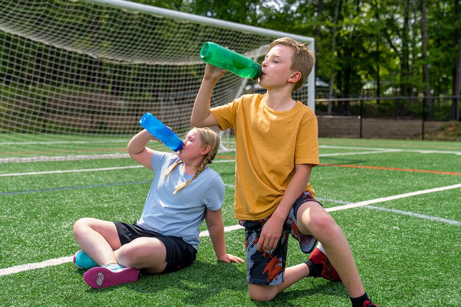
<svg viewBox="0 0 461 307">
<path fill-rule="evenodd" d="M 154 152 L 151 163 L 155 175 L 137 223 L 163 235 L 182 237 L 197 249 L 198 227 L 205 218 L 205 209 L 221 208 L 224 183 L 219 173 L 206 166 L 196 179 L 173 194 L 177 186 L 194 176 L 187 175 L 181 163 L 165 178 L 166 169 L 177 161 L 179 158 L 174 153 Z"/>
</svg>

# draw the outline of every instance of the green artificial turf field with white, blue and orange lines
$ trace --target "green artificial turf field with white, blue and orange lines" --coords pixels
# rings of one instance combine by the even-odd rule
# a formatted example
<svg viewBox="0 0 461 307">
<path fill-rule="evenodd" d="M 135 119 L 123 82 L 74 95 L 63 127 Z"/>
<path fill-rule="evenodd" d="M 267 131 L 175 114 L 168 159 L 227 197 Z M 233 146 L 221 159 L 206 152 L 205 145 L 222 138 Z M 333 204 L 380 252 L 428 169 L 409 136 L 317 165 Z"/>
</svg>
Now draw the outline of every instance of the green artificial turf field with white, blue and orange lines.
<svg viewBox="0 0 461 307">
<path fill-rule="evenodd" d="M 83 216 L 134 222 L 153 173 L 124 155 L 129 137 L 69 140 L 0 141 L 0 305 L 350 306 L 342 283 L 311 278 L 269 303 L 254 302 L 245 264 L 218 262 L 207 236 L 187 269 L 91 289 L 71 262 L 79 249 L 73 223 Z M 328 138 L 320 139 L 320 154 L 311 184 L 348 238 L 373 301 L 459 306 L 461 143 Z M 68 155 L 81 160 L 59 158 Z M 232 152 L 219 155 L 212 167 L 226 184 L 227 227 L 237 224 L 235 164 Z M 245 258 L 243 241 L 242 229 L 226 232 L 229 253 Z M 307 257 L 292 240 L 287 265 Z"/>
</svg>

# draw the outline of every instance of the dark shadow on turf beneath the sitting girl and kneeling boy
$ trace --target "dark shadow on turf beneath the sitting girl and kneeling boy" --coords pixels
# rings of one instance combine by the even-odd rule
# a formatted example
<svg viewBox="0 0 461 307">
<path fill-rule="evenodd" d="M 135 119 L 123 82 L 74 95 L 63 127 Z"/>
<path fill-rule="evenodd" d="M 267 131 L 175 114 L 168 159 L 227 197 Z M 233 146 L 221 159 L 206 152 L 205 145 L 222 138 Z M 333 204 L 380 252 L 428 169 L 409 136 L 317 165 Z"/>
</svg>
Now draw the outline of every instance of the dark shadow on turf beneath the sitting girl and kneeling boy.
<svg viewBox="0 0 461 307">
<path fill-rule="evenodd" d="M 80 270 L 78 270 L 80 271 Z M 82 272 L 83 275 L 83 272 Z M 303 297 L 325 297 L 325 296 L 347 296 L 347 292 L 341 282 L 328 282 L 323 279 L 315 280 L 306 278 L 299 281 L 296 288 L 280 293 L 270 302 L 255 302 L 248 296 L 246 283 L 246 265 L 225 264 L 216 262 L 210 264 L 200 260 L 195 260 L 194 264 L 186 269 L 168 274 L 140 274 L 136 282 L 122 284 L 103 289 L 88 289 L 88 292 L 108 292 L 114 288 L 127 287 L 128 289 L 144 294 L 155 295 L 164 291 L 174 291 L 175 299 L 180 299 L 187 305 L 203 305 L 219 296 L 221 292 L 231 290 L 235 292 L 239 299 L 247 300 L 256 306 L 298 306 L 298 303 L 290 303 L 290 300 L 297 300 Z M 239 295 L 242 294 L 242 295 Z M 315 298 L 313 298 L 315 299 Z"/>
</svg>

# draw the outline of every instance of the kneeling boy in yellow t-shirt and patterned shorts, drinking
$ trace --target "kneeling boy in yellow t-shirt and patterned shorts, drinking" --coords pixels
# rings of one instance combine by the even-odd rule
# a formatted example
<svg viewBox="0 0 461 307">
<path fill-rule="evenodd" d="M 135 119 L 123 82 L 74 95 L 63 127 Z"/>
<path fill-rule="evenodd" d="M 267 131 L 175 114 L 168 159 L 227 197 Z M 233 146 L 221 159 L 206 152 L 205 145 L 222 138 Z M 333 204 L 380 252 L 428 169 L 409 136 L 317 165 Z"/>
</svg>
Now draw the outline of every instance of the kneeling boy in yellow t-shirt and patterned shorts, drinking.
<svg viewBox="0 0 461 307">
<path fill-rule="evenodd" d="M 288 37 L 277 39 L 269 46 L 258 79 L 266 94 L 243 95 L 213 109 L 213 87 L 225 71 L 207 64 L 191 123 L 234 128 L 234 211 L 245 227 L 248 292 L 253 300 L 269 301 L 313 276 L 342 280 L 352 306 L 376 306 L 365 293 L 346 237 L 315 200 L 309 184 L 312 167 L 319 165 L 317 118 L 293 100 L 291 92 L 306 81 L 314 63 L 306 46 Z M 285 268 L 290 232 L 305 253 L 317 240 L 321 245 L 308 261 Z"/>
</svg>

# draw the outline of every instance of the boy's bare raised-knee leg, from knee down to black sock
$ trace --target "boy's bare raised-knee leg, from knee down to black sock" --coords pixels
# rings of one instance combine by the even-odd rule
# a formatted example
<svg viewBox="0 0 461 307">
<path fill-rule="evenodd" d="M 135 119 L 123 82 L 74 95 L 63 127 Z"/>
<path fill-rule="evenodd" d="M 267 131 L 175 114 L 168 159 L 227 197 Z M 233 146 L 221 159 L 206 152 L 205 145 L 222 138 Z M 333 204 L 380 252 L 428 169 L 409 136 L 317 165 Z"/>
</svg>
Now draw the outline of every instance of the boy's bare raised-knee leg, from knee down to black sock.
<svg viewBox="0 0 461 307">
<path fill-rule="evenodd" d="M 363 295 L 365 289 L 349 244 L 331 215 L 319 203 L 305 202 L 298 210 L 297 223 L 302 234 L 315 236 L 322 243 L 328 259 L 338 271 L 350 297 Z"/>
</svg>

